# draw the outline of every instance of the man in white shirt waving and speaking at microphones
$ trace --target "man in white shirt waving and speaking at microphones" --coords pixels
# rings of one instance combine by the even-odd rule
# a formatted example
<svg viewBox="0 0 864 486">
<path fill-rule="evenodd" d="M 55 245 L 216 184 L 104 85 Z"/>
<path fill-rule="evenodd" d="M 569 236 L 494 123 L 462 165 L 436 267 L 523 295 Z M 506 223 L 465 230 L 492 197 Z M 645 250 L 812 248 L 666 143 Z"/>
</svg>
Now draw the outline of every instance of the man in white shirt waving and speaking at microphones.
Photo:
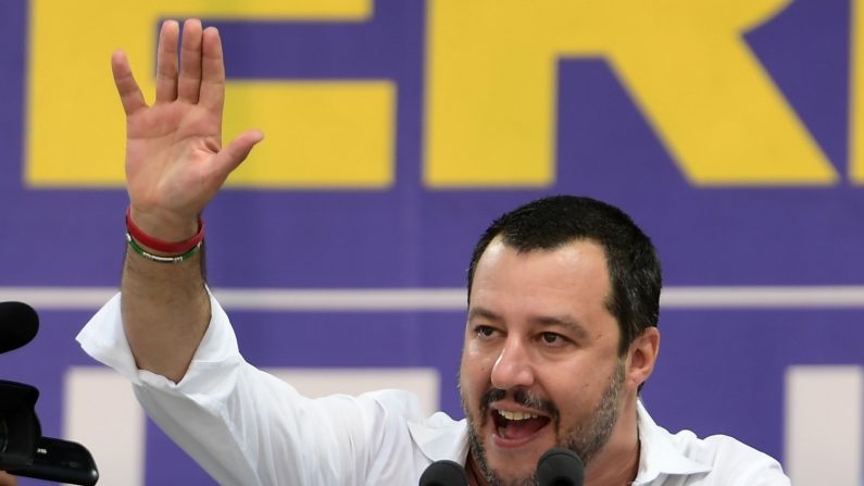
<svg viewBox="0 0 864 486">
<path fill-rule="evenodd" d="M 263 138 L 221 146 L 218 33 L 160 33 L 148 107 L 122 52 L 130 199 L 121 294 L 79 335 L 162 428 L 223 484 L 411 485 L 433 462 L 473 485 L 530 485 L 539 457 L 575 450 L 586 484 L 788 485 L 735 439 L 671 435 L 638 400 L 658 357 L 660 263 L 619 210 L 553 197 L 496 221 L 475 248 L 460 389 L 466 420 L 423 418 L 406 392 L 311 400 L 246 363 L 202 279 L 199 214 Z"/>
</svg>

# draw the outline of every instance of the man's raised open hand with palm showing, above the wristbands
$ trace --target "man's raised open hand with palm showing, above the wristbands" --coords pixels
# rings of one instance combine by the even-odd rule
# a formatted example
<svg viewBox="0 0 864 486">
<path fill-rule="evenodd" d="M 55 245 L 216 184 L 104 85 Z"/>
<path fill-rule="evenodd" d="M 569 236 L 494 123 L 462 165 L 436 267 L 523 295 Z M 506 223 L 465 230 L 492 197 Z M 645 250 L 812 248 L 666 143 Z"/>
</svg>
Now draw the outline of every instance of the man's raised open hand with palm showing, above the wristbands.
<svg viewBox="0 0 864 486">
<path fill-rule="evenodd" d="M 126 184 L 132 217 L 145 232 L 180 241 L 198 230 L 198 214 L 263 134 L 248 130 L 222 147 L 225 65 L 214 27 L 166 21 L 159 35 L 155 102 L 148 105 L 126 55 L 111 59 L 126 112 Z"/>
</svg>

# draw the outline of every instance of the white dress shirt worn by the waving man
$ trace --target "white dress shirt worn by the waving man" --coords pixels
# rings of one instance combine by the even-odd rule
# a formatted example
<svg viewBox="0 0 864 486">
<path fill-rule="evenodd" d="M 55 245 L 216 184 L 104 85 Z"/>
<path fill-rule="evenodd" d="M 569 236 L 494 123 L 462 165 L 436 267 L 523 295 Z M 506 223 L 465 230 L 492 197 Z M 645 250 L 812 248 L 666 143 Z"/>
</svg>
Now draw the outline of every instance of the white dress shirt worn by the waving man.
<svg viewBox="0 0 864 486">
<path fill-rule="evenodd" d="M 465 420 L 442 412 L 424 418 L 406 391 L 313 400 L 247 363 L 212 296 L 210 327 L 183 381 L 138 370 L 120 301 L 117 294 L 78 341 L 133 383 L 149 416 L 220 484 L 410 486 L 434 461 L 465 463 Z M 641 402 L 637 413 L 641 454 L 634 485 L 789 485 L 777 461 L 731 437 L 673 435 Z"/>
</svg>

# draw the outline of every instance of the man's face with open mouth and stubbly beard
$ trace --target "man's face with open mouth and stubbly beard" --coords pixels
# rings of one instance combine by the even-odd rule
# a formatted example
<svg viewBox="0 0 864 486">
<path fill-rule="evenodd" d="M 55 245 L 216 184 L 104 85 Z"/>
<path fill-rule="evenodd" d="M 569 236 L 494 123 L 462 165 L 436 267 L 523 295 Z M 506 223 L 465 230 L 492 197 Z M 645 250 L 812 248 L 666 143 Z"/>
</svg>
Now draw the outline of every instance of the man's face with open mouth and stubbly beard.
<svg viewBox="0 0 864 486">
<path fill-rule="evenodd" d="M 480 257 L 460 389 L 472 451 L 500 484 L 534 484 L 552 447 L 588 462 L 612 434 L 625 371 L 610 291 L 591 241 L 519 254 L 494 239 Z"/>
</svg>

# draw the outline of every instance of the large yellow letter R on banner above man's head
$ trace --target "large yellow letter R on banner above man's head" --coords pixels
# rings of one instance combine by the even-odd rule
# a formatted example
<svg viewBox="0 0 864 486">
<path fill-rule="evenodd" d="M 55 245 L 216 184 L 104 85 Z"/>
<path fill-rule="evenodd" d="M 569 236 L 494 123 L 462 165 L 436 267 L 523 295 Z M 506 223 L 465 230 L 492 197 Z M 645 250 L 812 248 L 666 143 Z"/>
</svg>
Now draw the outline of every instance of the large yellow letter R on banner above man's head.
<svg viewBox="0 0 864 486">
<path fill-rule="evenodd" d="M 555 60 L 605 57 L 693 184 L 832 184 L 742 39 L 787 3 L 429 0 L 425 183 L 552 184 Z"/>
</svg>

